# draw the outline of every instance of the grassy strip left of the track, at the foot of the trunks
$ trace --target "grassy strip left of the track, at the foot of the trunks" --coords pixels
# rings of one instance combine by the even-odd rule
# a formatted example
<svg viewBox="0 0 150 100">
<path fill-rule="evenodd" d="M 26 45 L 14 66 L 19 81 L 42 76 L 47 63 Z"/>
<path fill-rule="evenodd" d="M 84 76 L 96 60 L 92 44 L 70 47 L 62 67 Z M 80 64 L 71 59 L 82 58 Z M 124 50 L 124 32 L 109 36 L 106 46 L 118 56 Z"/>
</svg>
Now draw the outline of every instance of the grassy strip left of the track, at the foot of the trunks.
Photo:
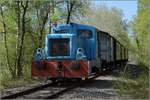
<svg viewBox="0 0 150 100">
<path fill-rule="evenodd" d="M 41 82 L 40 79 L 35 80 L 31 78 L 31 71 L 27 67 L 24 69 L 22 78 L 12 79 L 10 73 L 5 69 L 0 72 L 0 90 Z"/>
</svg>

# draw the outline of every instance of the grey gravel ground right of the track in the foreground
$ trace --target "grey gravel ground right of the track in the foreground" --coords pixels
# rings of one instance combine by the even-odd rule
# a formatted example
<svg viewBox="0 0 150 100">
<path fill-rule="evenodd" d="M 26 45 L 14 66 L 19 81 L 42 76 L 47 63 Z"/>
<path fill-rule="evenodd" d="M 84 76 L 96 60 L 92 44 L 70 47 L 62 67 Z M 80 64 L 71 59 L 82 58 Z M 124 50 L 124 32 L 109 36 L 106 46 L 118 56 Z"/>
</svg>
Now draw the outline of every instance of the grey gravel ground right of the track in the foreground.
<svg viewBox="0 0 150 100">
<path fill-rule="evenodd" d="M 58 99 L 77 99 L 77 100 L 130 100 L 130 97 L 120 97 L 113 88 L 115 81 L 118 81 L 113 76 L 100 76 L 92 83 L 75 88 L 61 95 Z"/>
</svg>

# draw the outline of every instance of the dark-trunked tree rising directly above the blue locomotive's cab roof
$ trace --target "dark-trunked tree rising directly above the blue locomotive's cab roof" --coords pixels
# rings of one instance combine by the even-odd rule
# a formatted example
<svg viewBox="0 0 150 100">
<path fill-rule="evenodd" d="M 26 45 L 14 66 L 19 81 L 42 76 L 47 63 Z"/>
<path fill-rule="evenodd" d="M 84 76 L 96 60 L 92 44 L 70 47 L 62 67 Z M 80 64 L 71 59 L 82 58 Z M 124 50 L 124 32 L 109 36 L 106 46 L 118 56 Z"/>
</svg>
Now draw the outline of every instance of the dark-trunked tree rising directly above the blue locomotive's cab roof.
<svg viewBox="0 0 150 100">
<path fill-rule="evenodd" d="M 61 1 L 61 0 L 60 0 Z M 61 12 L 60 19 L 65 23 L 70 23 L 80 19 L 85 14 L 85 9 L 89 8 L 89 1 L 85 0 L 62 0 L 57 4 L 57 9 Z"/>
</svg>

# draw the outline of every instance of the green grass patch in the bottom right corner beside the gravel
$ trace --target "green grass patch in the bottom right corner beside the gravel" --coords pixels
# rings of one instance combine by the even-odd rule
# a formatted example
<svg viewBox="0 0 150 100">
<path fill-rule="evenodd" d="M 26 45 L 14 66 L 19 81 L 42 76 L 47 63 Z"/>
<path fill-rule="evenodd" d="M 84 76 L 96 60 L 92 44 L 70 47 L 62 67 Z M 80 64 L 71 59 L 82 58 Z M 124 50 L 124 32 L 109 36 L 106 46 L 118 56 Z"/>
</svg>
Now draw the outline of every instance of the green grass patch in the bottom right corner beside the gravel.
<svg viewBox="0 0 150 100">
<path fill-rule="evenodd" d="M 122 80 L 127 80 L 127 82 L 117 81 L 114 84 L 114 88 L 118 90 L 120 96 L 128 95 L 133 99 L 149 98 L 149 74 L 145 70 L 133 81 L 128 79 L 128 75 L 124 75 Z"/>
</svg>

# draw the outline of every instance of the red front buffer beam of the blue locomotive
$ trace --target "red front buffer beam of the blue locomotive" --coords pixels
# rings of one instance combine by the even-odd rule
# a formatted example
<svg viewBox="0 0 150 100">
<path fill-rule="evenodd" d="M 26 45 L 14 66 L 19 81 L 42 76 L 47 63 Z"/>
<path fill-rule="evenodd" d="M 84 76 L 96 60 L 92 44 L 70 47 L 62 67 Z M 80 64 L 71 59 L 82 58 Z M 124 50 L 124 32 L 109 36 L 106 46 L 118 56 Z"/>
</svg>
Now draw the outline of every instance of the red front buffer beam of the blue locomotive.
<svg viewBox="0 0 150 100">
<path fill-rule="evenodd" d="M 64 77 L 87 78 L 90 61 L 33 61 L 32 76 L 34 77 Z M 38 66 L 42 69 L 38 69 Z"/>
</svg>

